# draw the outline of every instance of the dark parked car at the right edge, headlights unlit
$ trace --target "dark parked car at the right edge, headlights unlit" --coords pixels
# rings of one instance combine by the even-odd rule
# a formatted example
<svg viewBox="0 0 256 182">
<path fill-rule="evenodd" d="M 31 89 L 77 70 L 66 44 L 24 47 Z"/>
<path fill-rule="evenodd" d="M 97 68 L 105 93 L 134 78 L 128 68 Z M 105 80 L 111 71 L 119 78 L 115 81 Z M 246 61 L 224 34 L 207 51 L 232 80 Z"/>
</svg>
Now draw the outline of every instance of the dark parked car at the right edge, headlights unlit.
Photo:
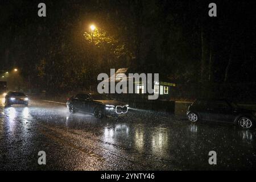
<svg viewBox="0 0 256 182">
<path fill-rule="evenodd" d="M 188 107 L 187 118 L 190 122 L 216 121 L 229 122 L 243 129 L 251 129 L 255 125 L 256 112 L 242 109 L 228 100 L 200 99 Z"/>
</svg>

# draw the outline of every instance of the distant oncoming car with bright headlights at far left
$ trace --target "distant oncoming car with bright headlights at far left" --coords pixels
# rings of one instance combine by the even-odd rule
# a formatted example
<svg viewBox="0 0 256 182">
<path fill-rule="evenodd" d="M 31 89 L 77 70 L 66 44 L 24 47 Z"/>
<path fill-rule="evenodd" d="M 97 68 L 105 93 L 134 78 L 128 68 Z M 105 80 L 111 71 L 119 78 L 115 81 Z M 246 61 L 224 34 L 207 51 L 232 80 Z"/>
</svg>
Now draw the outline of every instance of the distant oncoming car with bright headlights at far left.
<svg viewBox="0 0 256 182">
<path fill-rule="evenodd" d="M 28 105 L 28 97 L 23 92 L 8 92 L 5 96 L 5 106 Z"/>
</svg>

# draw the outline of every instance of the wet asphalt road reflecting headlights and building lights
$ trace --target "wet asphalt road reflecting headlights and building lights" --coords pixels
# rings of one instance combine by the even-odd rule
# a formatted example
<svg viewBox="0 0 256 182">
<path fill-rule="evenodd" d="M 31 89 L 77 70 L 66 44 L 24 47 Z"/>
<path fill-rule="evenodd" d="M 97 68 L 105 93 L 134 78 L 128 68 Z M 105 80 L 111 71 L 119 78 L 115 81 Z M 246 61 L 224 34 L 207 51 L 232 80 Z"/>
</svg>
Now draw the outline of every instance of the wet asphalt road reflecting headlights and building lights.
<svg viewBox="0 0 256 182">
<path fill-rule="evenodd" d="M 174 115 L 134 110 L 125 118 L 69 114 L 40 100 L 0 106 L 0 169 L 180 170 L 255 169 L 256 131 L 192 125 Z M 46 152 L 46 165 L 38 152 Z M 209 165 L 209 151 L 217 165 Z"/>
</svg>

